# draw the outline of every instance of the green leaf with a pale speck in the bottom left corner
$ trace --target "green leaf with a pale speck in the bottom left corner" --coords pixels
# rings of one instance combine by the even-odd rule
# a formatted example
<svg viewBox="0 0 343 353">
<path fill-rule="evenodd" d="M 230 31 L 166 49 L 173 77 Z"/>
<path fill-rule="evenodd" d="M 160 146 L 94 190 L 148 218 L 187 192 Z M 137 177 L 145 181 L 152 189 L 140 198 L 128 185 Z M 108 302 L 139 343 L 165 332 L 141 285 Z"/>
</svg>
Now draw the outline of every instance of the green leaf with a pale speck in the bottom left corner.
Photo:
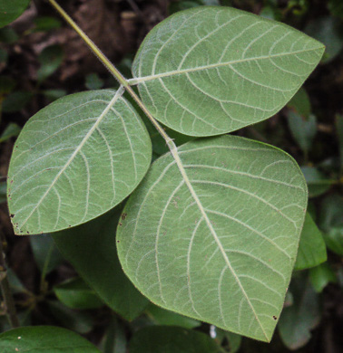
<svg viewBox="0 0 343 353">
<path fill-rule="evenodd" d="M 100 353 L 91 342 L 68 329 L 32 326 L 0 334 L 2 353 Z"/>
</svg>

